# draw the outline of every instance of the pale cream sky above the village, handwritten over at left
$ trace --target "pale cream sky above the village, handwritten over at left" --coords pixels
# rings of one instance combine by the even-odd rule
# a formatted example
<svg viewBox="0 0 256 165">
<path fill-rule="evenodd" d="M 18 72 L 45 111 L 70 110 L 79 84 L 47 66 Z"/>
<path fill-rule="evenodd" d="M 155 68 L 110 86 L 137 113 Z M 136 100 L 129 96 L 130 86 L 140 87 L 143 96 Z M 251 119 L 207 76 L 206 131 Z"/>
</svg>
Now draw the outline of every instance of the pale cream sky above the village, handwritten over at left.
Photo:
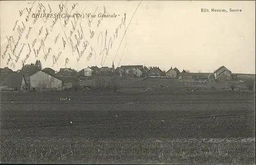
<svg viewBox="0 0 256 165">
<path fill-rule="evenodd" d="M 69 20 L 60 17 L 53 27 L 54 17 L 32 17 L 65 11 Z M 17 70 L 38 59 L 54 70 L 114 62 L 202 73 L 224 65 L 255 74 L 255 1 L 1 1 L 0 21 L 1 68 Z"/>
</svg>

